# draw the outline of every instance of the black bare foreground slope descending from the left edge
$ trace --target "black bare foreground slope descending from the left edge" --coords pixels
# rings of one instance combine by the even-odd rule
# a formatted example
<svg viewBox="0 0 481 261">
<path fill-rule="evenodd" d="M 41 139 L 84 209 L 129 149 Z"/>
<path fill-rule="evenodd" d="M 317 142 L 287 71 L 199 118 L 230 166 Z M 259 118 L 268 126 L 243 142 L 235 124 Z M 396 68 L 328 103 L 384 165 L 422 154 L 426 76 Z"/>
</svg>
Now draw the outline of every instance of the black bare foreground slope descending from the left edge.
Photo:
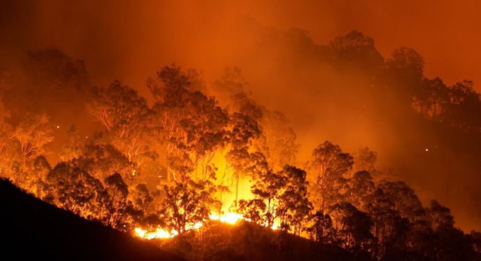
<svg viewBox="0 0 481 261">
<path fill-rule="evenodd" d="M 0 179 L 0 260 L 181 260 Z"/>
</svg>

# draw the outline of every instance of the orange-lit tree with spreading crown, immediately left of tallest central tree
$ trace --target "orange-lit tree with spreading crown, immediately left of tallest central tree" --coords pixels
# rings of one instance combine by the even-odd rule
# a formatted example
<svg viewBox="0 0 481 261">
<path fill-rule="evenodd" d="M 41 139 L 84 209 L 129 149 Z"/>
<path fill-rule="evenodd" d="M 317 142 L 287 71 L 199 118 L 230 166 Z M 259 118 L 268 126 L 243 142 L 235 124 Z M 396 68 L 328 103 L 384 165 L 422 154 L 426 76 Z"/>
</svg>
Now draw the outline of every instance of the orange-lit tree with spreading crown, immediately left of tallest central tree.
<svg viewBox="0 0 481 261">
<path fill-rule="evenodd" d="M 94 88 L 88 110 L 104 126 L 108 143 L 131 162 L 131 176 L 136 176 L 147 160 L 156 160 L 153 147 L 160 129 L 152 124 L 153 112 L 136 90 L 120 81 Z"/>
</svg>

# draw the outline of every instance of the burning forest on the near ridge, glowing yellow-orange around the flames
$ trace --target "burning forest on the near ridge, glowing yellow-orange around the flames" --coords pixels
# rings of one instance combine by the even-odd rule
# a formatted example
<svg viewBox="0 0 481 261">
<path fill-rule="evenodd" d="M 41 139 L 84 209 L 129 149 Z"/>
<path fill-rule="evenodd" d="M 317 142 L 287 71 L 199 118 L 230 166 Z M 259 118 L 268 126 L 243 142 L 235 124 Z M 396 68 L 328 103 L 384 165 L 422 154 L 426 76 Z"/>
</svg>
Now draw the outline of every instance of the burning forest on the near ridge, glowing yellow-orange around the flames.
<svg viewBox="0 0 481 261">
<path fill-rule="evenodd" d="M 238 76 L 228 76 L 216 85 L 229 90 Z M 425 207 L 406 183 L 383 179 L 370 149 L 353 156 L 325 141 L 300 163 L 296 135 L 281 112 L 242 89 L 224 94 L 229 106 L 222 108 L 192 77 L 175 65 L 158 71 L 147 84 L 152 106 L 118 81 L 92 88 L 86 108 L 101 128 L 85 139 L 72 126 L 54 167 L 42 153 L 60 125 L 46 115 L 15 123 L 3 111 L 8 128 L 1 129 L 7 138 L 0 152 L 8 156 L 1 175 L 59 208 L 143 239 L 195 235 L 209 230 L 215 223 L 209 220 L 247 221 L 381 258 L 385 250 L 368 242 L 387 248 L 386 238 L 398 237 L 393 226 L 401 226 L 385 221 L 386 212 L 411 224 L 406 233 L 419 233 L 414 224 L 432 233 L 457 231 L 443 205 Z"/>
</svg>

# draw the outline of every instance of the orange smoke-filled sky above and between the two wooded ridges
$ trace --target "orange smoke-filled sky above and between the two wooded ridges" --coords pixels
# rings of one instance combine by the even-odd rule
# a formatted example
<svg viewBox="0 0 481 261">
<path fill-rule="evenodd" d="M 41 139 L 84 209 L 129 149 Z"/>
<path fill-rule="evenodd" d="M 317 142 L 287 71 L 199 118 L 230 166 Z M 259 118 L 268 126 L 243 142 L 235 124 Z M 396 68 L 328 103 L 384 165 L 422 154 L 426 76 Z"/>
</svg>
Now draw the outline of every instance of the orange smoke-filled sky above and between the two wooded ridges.
<svg viewBox="0 0 481 261">
<path fill-rule="evenodd" d="M 368 97 L 357 95 L 354 87 L 362 83 L 318 75 L 316 65 L 304 57 L 316 44 L 357 30 L 373 37 L 385 58 L 393 49 L 412 47 L 425 60 L 425 76 L 439 76 L 448 84 L 472 79 L 479 91 L 479 1 L 3 0 L 0 5 L 0 69 L 20 62 L 28 50 L 54 46 L 84 60 L 93 83 L 106 85 L 118 78 L 147 96 L 146 78 L 172 62 L 199 69 L 208 83 L 225 67 L 238 66 L 254 98 L 291 119 L 302 159 L 323 140 L 347 151 L 369 146 L 378 151 L 380 164 L 398 169 L 422 199 L 448 205 L 463 229 L 481 229 L 479 169 L 460 164 L 461 169 L 446 170 L 433 159 L 424 159 L 430 161 L 424 166 L 419 155 L 427 146 L 442 149 L 439 140 L 423 143 L 412 128 L 405 133 L 412 140 L 405 149 L 386 131 L 393 127 L 373 116 Z M 309 37 L 301 35 L 300 43 L 293 44 L 291 28 L 307 31 Z M 352 94 L 332 101 L 334 94 L 325 85 L 352 87 Z M 350 115 L 357 110 L 352 104 L 367 108 L 368 120 Z M 339 110 L 344 107 L 348 109 Z M 453 160 L 456 153 L 450 151 L 436 160 L 449 153 Z M 468 173 L 461 175 L 466 180 L 453 182 L 456 171 Z"/>
</svg>

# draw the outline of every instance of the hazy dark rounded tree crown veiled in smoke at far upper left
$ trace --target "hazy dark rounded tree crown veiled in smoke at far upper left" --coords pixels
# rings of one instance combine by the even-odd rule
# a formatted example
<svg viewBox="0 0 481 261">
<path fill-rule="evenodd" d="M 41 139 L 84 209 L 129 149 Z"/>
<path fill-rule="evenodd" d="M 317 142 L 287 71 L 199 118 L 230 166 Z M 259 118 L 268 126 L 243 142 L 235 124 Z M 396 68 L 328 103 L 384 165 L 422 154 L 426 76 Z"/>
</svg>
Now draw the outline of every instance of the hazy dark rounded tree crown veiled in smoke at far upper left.
<svg viewBox="0 0 481 261">
<path fill-rule="evenodd" d="M 90 83 L 83 61 L 50 47 L 28 51 L 19 69 L 12 77 L 13 87 L 5 93 L 6 106 L 15 117 L 45 113 L 53 122 L 68 126 L 84 116 Z"/>
</svg>

